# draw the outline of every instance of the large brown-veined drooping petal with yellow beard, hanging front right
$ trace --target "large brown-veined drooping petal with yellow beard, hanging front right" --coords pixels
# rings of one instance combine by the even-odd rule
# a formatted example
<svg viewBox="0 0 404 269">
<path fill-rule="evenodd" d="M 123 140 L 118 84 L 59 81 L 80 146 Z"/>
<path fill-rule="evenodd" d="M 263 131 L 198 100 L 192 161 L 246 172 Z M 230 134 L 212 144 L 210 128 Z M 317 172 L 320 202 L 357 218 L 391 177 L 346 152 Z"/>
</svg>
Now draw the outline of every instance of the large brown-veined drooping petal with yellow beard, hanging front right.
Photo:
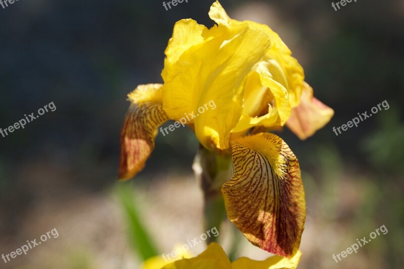
<svg viewBox="0 0 404 269">
<path fill-rule="evenodd" d="M 291 257 L 306 220 L 296 156 L 269 133 L 232 142 L 232 155 L 234 174 L 222 186 L 228 218 L 252 244 Z"/>
</svg>

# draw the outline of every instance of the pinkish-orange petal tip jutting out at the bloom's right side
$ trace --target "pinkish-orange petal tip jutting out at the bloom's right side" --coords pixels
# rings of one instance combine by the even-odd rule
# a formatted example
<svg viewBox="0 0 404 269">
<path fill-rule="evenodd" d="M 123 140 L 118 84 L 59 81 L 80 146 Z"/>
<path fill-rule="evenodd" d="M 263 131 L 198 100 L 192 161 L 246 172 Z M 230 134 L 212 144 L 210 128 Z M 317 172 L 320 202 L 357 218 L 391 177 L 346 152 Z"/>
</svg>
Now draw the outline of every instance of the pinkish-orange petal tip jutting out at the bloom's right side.
<svg viewBox="0 0 404 269">
<path fill-rule="evenodd" d="M 292 110 L 286 126 L 300 139 L 312 136 L 334 116 L 334 111 L 313 96 L 313 89 L 306 82 L 300 104 Z"/>
</svg>

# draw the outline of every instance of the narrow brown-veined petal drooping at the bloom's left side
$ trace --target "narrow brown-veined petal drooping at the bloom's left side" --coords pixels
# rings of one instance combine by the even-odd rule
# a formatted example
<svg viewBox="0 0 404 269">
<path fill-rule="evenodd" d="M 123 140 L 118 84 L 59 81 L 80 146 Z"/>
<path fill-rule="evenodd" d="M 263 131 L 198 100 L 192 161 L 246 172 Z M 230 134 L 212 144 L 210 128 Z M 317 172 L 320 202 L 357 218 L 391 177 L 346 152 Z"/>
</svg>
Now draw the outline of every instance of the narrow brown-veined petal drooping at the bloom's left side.
<svg viewBox="0 0 404 269">
<path fill-rule="evenodd" d="M 162 107 L 162 84 L 139 85 L 128 94 L 131 105 L 121 130 L 119 179 L 140 172 L 155 147 L 157 128 L 168 120 Z"/>
</svg>

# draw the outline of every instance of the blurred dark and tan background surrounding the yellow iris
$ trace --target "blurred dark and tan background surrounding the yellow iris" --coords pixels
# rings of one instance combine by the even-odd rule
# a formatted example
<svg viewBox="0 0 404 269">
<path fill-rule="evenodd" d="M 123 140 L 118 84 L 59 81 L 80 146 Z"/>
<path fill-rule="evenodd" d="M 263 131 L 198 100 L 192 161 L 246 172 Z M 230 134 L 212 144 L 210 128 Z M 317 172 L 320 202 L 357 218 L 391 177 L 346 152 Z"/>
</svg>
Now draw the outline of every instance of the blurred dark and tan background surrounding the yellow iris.
<svg viewBox="0 0 404 269">
<path fill-rule="evenodd" d="M 145 169 L 117 183 L 126 94 L 161 83 L 176 21 L 208 27 L 213 0 L 19 1 L 0 6 L 0 127 L 54 102 L 25 129 L 0 136 L 0 254 L 56 228 L 58 238 L 1 268 L 137 268 L 139 238 L 168 253 L 204 233 L 203 193 L 188 129 L 158 136 Z M 404 263 L 404 2 L 230 1 L 230 17 L 268 24 L 304 67 L 332 121 L 300 141 L 278 133 L 299 159 L 307 198 L 299 268 L 401 268 Z M 386 100 L 389 109 L 336 136 L 339 127 Z M 357 238 L 380 235 L 336 263 Z M 231 230 L 229 223 L 226 229 Z M 224 237 L 223 246 L 231 246 Z M 145 249 L 140 247 L 140 249 Z M 203 244 L 191 249 L 194 255 Z M 151 253 L 149 252 L 149 253 Z M 143 253 L 144 254 L 144 253 Z M 268 253 L 242 240 L 235 257 Z"/>
</svg>

